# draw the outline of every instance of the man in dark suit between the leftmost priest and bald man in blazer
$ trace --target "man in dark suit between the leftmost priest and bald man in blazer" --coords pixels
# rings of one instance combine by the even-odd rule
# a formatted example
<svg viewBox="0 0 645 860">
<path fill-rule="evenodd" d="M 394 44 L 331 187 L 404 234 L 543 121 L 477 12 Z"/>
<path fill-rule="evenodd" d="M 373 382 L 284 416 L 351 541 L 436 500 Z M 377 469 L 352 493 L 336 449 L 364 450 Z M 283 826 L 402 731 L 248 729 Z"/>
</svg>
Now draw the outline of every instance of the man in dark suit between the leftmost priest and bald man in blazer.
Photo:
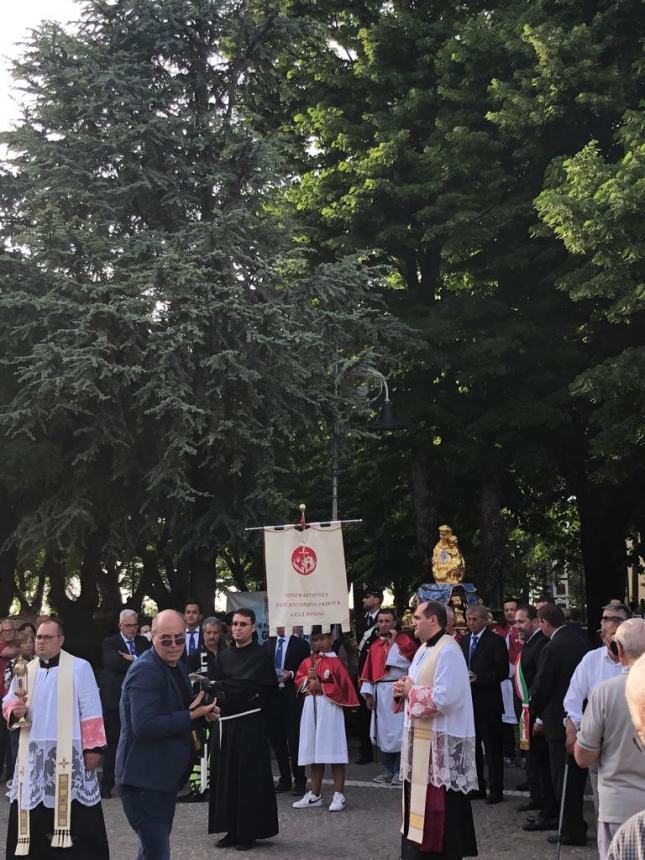
<svg viewBox="0 0 645 860">
<path fill-rule="evenodd" d="M 121 721 L 119 700 L 121 687 L 132 663 L 150 647 L 145 636 L 137 635 L 139 617 L 133 609 L 124 609 L 119 615 L 119 632 L 108 636 L 101 646 L 101 704 L 107 747 L 103 757 L 101 797 L 112 796 L 114 788 L 114 759 L 119 744 Z"/>
</svg>

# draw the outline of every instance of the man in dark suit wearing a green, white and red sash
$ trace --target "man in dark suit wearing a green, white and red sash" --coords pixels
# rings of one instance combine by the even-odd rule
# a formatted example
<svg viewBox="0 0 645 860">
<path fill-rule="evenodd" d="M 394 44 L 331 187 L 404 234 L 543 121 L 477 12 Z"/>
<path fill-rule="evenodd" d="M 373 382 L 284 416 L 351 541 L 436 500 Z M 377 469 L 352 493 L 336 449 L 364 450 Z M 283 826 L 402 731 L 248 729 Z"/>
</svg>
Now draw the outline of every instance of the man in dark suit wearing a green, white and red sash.
<svg viewBox="0 0 645 860">
<path fill-rule="evenodd" d="M 515 626 L 522 641 L 520 666 L 526 687 L 530 690 L 540 665 L 542 649 L 548 639 L 542 628 L 534 606 L 518 606 L 515 612 Z M 516 685 L 517 688 L 517 685 Z M 529 801 L 521 803 L 518 812 L 537 810 L 538 815 L 522 825 L 524 830 L 552 830 L 557 815 L 555 797 L 551 788 L 549 771 L 549 750 L 543 734 L 533 735 L 535 714 L 529 703 L 529 750 L 526 758 L 526 781 L 529 785 Z M 556 821 L 557 826 L 557 821 Z"/>
</svg>

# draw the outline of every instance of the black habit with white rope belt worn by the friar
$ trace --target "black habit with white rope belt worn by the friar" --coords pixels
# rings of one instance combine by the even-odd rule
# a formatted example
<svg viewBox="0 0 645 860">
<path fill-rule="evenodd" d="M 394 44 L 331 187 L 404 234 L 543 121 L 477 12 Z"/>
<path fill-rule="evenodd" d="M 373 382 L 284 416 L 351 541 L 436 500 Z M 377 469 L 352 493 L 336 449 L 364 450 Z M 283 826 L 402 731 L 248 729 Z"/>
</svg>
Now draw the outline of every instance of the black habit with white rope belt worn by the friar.
<svg viewBox="0 0 645 860">
<path fill-rule="evenodd" d="M 222 651 L 209 672 L 217 682 L 222 717 L 213 724 L 208 832 L 230 833 L 238 843 L 278 832 L 278 808 L 263 711 L 276 689 L 271 658 L 259 645 Z M 221 741 L 220 741 L 221 738 Z"/>
</svg>

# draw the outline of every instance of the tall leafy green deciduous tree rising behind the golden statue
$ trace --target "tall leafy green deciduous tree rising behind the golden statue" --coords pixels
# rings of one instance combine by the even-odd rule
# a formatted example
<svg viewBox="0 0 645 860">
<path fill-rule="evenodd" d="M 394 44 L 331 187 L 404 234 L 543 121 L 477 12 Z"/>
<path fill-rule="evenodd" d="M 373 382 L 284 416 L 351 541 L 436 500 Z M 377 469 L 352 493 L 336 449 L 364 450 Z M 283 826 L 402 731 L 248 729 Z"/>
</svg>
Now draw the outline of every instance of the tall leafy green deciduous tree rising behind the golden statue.
<svg viewBox="0 0 645 860">
<path fill-rule="evenodd" d="M 514 559 L 503 512 L 519 528 L 527 487 L 544 514 L 573 495 L 595 616 L 624 580 L 638 478 L 597 482 L 600 415 L 572 398 L 596 363 L 593 311 L 558 289 L 575 262 L 538 229 L 535 200 L 557 160 L 592 139 L 611 152 L 637 108 L 642 4 L 329 2 L 309 14 L 325 38 L 293 71 L 309 164 L 289 197 L 321 256 L 379 249 L 390 307 L 427 340 L 401 384 L 417 562 L 427 573 L 434 527 L 452 520 L 499 599 Z"/>
</svg>

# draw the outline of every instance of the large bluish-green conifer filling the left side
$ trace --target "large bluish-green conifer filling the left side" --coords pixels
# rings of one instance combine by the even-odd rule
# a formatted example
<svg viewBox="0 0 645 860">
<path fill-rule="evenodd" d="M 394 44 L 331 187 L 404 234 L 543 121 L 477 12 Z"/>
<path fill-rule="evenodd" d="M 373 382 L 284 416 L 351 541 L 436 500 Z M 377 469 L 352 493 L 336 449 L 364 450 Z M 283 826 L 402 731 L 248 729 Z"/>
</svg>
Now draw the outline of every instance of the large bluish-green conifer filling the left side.
<svg viewBox="0 0 645 860">
<path fill-rule="evenodd" d="M 353 407 L 335 363 L 392 361 L 378 270 L 310 262 L 272 211 L 289 149 L 258 106 L 294 33 L 278 4 L 94 0 L 16 66 L 2 483 L 67 617 L 113 610 L 133 557 L 135 603 L 210 604 L 220 549 L 284 507 L 290 440 Z"/>
</svg>

